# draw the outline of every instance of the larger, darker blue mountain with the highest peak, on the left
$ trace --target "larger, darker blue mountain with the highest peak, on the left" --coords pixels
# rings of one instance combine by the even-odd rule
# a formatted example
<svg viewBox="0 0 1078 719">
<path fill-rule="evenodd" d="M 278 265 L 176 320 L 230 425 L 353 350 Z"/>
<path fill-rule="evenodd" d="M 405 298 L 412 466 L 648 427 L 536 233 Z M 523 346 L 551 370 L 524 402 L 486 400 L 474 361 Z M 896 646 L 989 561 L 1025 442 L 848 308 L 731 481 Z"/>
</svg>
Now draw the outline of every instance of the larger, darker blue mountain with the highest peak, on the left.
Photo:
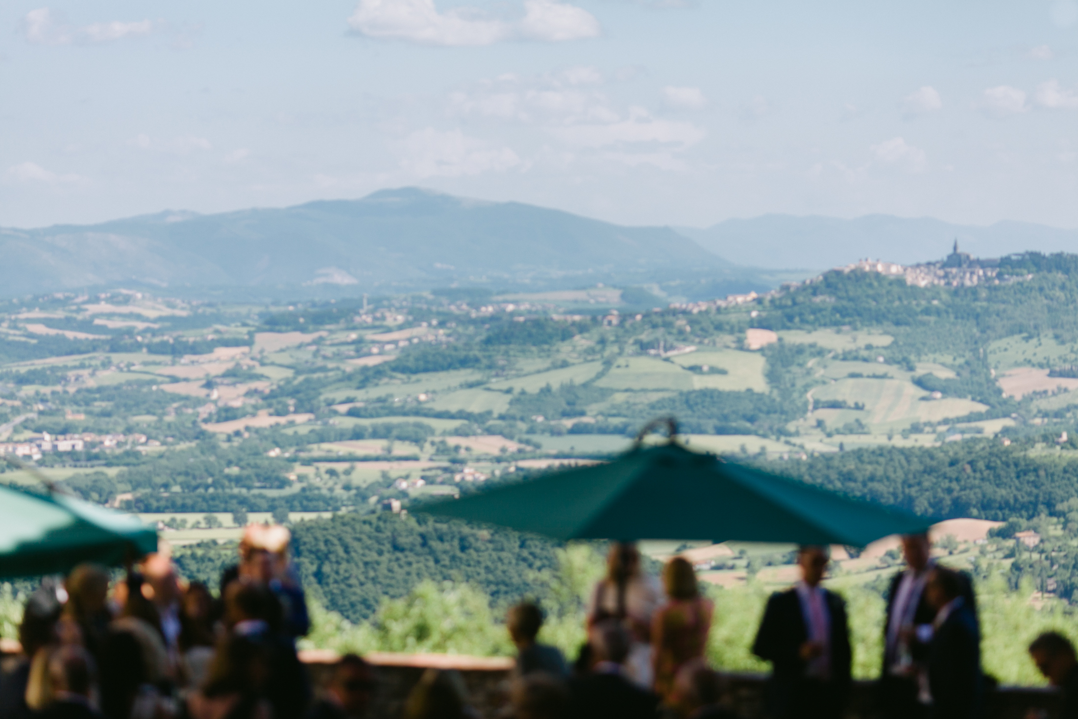
<svg viewBox="0 0 1078 719">
<path fill-rule="evenodd" d="M 732 269 L 668 227 L 624 227 L 418 189 L 284 209 L 0 230 L 0 247 L 9 259 L 0 281 L 10 294 L 118 282 L 350 293 L 593 286 Z"/>
</svg>

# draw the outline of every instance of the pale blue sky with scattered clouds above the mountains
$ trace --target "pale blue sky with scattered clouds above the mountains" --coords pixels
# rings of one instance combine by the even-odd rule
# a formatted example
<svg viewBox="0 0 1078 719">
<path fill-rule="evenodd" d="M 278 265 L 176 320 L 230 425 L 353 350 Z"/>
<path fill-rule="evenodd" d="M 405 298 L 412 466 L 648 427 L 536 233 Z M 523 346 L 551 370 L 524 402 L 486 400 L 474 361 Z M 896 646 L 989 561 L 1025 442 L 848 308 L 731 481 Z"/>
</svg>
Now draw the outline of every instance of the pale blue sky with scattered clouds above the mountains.
<svg viewBox="0 0 1078 719">
<path fill-rule="evenodd" d="M 417 185 L 1078 227 L 1078 1 L 5 0 L 0 225 Z"/>
</svg>

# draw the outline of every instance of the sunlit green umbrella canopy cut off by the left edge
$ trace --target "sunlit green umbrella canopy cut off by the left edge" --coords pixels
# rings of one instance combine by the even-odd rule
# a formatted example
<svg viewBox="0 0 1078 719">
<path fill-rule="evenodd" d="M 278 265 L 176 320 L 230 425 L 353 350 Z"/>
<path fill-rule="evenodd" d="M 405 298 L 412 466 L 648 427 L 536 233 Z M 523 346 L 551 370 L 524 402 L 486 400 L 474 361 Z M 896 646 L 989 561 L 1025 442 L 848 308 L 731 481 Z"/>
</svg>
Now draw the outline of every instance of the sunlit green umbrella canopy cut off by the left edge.
<svg viewBox="0 0 1078 719">
<path fill-rule="evenodd" d="M 0 485 L 0 579 L 66 572 L 80 562 L 118 565 L 155 551 L 156 530 L 138 517 Z"/>
</svg>

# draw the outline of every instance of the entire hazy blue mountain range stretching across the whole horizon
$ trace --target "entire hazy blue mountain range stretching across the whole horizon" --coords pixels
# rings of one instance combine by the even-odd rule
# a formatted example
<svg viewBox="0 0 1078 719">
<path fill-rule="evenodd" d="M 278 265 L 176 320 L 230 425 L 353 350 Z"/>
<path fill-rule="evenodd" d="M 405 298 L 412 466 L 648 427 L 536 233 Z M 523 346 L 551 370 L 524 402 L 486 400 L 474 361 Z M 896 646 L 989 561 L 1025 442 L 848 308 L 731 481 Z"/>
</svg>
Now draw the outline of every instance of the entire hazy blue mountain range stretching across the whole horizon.
<svg viewBox="0 0 1078 719">
<path fill-rule="evenodd" d="M 695 300 L 768 290 L 866 257 L 938 259 L 955 238 L 980 257 L 1078 251 L 1078 231 L 1018 222 L 769 215 L 706 230 L 627 227 L 404 188 L 280 209 L 0 229 L 0 294 L 141 286 L 254 299 L 604 282 Z"/>
</svg>

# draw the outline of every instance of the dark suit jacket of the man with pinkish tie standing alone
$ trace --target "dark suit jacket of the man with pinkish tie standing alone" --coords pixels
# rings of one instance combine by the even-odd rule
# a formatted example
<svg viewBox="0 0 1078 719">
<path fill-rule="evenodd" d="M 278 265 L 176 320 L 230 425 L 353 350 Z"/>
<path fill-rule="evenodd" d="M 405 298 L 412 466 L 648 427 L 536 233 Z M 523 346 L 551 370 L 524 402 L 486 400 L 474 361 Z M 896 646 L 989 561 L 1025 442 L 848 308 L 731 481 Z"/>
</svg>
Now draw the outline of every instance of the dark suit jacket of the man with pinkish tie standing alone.
<svg viewBox="0 0 1078 719">
<path fill-rule="evenodd" d="M 842 597 L 824 591 L 831 624 L 831 680 L 834 701 L 842 705 L 849 692 L 849 672 L 853 654 L 849 649 L 849 630 L 846 603 Z M 774 669 L 769 691 L 772 710 L 786 716 L 804 695 L 807 663 L 801 659 L 801 645 L 808 639 L 801 599 L 797 590 L 772 594 L 763 611 L 763 620 L 752 645 L 752 653 L 772 663 Z"/>
</svg>

